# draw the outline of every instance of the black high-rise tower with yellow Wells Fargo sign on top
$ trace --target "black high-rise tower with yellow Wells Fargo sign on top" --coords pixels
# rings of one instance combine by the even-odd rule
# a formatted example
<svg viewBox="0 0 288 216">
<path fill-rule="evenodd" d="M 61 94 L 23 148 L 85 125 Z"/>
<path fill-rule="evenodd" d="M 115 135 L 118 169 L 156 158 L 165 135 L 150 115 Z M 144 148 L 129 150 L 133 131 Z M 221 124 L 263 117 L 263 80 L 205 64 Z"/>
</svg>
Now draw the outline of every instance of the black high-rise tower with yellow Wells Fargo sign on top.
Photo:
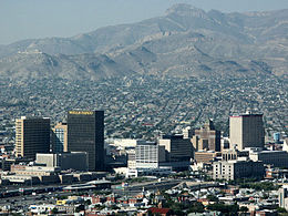
<svg viewBox="0 0 288 216">
<path fill-rule="evenodd" d="M 104 111 L 68 112 L 68 151 L 86 152 L 89 171 L 104 169 Z"/>
</svg>

